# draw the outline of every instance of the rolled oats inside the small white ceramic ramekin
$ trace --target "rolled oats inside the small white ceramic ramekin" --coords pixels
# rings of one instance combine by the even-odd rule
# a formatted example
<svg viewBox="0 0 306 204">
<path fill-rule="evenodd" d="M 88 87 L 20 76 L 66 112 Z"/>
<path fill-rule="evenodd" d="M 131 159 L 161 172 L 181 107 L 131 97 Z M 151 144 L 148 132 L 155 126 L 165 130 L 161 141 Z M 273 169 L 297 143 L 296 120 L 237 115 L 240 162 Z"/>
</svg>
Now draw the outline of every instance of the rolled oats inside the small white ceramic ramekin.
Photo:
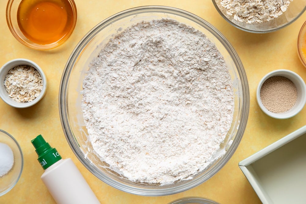
<svg viewBox="0 0 306 204">
<path fill-rule="evenodd" d="M 30 102 L 43 89 L 43 79 L 32 66 L 19 65 L 9 70 L 4 80 L 9 97 L 17 102 Z"/>
</svg>

